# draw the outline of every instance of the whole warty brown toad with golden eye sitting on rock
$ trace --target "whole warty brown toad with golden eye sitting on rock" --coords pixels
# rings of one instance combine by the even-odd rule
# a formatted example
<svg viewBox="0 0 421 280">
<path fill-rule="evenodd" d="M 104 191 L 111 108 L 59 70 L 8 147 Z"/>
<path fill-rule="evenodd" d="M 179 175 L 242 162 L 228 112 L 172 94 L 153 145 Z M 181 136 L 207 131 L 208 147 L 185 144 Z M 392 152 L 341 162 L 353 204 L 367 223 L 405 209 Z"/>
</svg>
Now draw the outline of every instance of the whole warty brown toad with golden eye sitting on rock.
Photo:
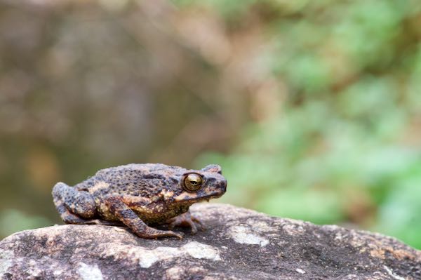
<svg viewBox="0 0 421 280">
<path fill-rule="evenodd" d="M 218 165 L 187 170 L 165 164 L 128 164 L 98 171 L 69 187 L 58 182 L 53 199 L 67 224 L 121 225 L 143 238 L 177 236 L 171 230 L 148 225 L 187 225 L 196 233 L 201 222 L 189 214 L 189 206 L 222 196 L 227 180 Z"/>
</svg>

